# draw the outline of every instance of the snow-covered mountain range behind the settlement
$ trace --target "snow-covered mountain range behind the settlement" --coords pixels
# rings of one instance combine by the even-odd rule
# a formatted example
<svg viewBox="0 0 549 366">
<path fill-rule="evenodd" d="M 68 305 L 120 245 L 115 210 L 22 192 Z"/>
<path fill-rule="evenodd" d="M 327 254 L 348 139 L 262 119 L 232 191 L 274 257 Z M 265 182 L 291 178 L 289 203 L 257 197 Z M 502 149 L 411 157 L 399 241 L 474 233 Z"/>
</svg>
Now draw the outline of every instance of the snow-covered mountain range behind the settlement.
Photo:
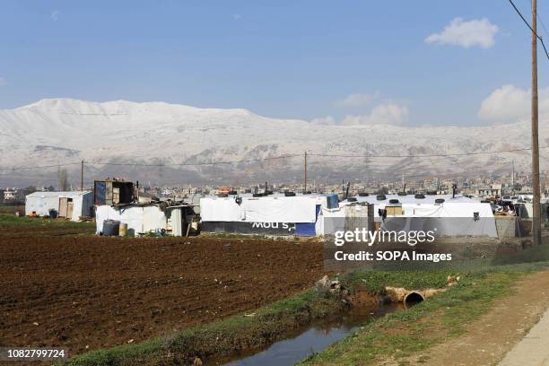
<svg viewBox="0 0 549 366">
<path fill-rule="evenodd" d="M 540 126 L 540 146 L 549 145 L 549 128 Z M 437 157 L 379 157 L 508 151 L 530 146 L 527 121 L 498 126 L 316 125 L 299 119 L 258 116 L 246 109 L 199 109 L 164 102 L 91 102 L 47 99 L 0 110 L 0 166 L 31 167 L 59 163 L 79 181 L 106 176 L 154 183 L 212 181 L 238 184 L 276 179 L 300 180 L 302 154 L 309 153 L 312 179 L 382 179 L 479 171 L 527 170 L 529 151 Z M 549 149 L 541 150 L 541 166 Z M 287 159 L 218 165 L 281 155 Z M 317 156 L 369 155 L 364 157 Z M 93 164 L 92 164 L 93 162 Z M 158 166 L 103 165 L 161 164 Z M 178 165 L 179 164 L 179 165 Z M 56 182 L 57 168 L 0 170 L 0 186 Z M 77 173 L 78 172 L 78 173 Z"/>
</svg>

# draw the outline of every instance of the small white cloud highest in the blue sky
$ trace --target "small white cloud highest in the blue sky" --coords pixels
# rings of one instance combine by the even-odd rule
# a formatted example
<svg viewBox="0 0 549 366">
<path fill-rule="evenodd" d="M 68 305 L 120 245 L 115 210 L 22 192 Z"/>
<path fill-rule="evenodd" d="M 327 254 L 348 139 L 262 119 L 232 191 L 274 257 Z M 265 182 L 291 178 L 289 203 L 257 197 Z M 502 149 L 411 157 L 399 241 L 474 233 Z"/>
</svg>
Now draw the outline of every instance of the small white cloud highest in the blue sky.
<svg viewBox="0 0 549 366">
<path fill-rule="evenodd" d="M 456 45 L 464 48 L 475 46 L 491 48 L 495 43 L 493 37 L 499 30 L 497 25 L 492 24 L 486 18 L 471 21 L 456 18 L 449 22 L 440 33 L 432 33 L 425 39 L 425 42 Z"/>
</svg>

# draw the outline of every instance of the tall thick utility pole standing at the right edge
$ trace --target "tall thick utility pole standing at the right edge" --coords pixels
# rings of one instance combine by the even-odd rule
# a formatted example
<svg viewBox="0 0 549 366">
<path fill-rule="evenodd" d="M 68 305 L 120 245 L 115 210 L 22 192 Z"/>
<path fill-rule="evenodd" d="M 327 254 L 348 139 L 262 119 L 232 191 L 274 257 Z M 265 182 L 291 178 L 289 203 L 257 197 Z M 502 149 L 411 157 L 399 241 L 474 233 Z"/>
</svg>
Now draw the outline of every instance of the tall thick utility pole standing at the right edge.
<svg viewBox="0 0 549 366">
<path fill-rule="evenodd" d="M 534 245 L 541 244 L 539 141 L 537 133 L 537 112 L 537 0 L 532 0 L 532 188 L 534 190 L 532 236 Z"/>
</svg>

